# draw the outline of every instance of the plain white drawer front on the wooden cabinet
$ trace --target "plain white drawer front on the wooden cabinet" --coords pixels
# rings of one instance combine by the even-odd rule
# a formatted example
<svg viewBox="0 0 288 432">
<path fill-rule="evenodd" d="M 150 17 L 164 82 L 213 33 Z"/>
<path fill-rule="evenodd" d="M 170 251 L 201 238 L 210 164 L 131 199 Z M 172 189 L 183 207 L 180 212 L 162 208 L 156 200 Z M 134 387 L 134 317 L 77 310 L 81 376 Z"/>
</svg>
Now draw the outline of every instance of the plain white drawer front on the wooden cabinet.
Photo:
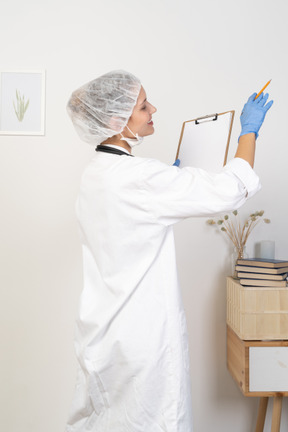
<svg viewBox="0 0 288 432">
<path fill-rule="evenodd" d="M 249 391 L 288 391 L 288 347 L 249 347 Z"/>
</svg>

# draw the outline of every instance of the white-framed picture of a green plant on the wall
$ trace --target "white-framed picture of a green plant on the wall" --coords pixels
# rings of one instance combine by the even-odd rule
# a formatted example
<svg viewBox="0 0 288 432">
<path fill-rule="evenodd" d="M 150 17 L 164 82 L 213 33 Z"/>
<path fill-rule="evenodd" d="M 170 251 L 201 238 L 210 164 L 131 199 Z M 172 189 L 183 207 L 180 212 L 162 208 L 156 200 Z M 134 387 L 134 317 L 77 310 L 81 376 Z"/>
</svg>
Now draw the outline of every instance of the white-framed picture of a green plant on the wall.
<svg viewBox="0 0 288 432">
<path fill-rule="evenodd" d="M 45 71 L 0 71 L 0 135 L 45 134 Z"/>
</svg>

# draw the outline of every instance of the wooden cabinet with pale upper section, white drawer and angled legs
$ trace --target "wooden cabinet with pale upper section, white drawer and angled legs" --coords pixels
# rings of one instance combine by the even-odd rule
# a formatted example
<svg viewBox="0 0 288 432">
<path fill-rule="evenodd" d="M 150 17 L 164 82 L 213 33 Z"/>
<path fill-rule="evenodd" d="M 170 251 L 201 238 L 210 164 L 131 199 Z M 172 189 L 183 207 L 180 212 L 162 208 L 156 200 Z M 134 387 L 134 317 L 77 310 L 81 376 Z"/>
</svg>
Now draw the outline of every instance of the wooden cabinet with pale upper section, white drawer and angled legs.
<svg viewBox="0 0 288 432">
<path fill-rule="evenodd" d="M 260 397 L 255 432 L 263 432 L 269 397 L 271 432 L 280 432 L 288 396 L 288 288 L 242 287 L 227 278 L 227 367 L 244 396 Z"/>
</svg>

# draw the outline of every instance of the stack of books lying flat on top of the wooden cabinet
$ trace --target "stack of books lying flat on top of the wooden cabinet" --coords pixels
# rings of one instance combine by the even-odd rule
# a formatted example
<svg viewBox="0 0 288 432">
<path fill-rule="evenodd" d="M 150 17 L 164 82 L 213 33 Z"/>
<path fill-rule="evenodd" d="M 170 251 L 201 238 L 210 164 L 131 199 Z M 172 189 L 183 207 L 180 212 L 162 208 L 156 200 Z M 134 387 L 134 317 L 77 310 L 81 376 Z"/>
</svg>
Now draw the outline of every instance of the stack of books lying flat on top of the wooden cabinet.
<svg viewBox="0 0 288 432">
<path fill-rule="evenodd" d="M 288 261 L 248 258 L 238 259 L 237 277 L 244 286 L 286 287 Z"/>
</svg>

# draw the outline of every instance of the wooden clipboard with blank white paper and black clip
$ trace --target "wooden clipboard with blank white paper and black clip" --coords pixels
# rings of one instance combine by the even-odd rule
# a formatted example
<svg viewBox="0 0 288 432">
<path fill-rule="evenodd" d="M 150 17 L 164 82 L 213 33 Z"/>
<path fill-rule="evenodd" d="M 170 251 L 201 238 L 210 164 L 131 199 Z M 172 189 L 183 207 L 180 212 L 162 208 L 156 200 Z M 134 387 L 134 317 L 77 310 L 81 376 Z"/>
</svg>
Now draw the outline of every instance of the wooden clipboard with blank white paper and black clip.
<svg viewBox="0 0 288 432">
<path fill-rule="evenodd" d="M 234 114 L 226 111 L 185 121 L 176 154 L 180 167 L 220 171 L 227 162 Z"/>
</svg>

